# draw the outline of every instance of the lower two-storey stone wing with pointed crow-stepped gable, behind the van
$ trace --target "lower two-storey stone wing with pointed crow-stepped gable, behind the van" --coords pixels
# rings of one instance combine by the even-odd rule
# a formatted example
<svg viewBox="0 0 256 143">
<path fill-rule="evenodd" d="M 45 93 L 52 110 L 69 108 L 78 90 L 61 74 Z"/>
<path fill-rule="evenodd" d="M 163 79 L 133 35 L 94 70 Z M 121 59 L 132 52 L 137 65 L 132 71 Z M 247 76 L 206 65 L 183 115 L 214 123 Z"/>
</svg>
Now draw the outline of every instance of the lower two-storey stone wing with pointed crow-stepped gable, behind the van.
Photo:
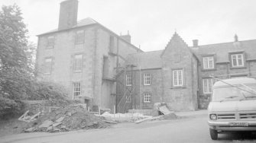
<svg viewBox="0 0 256 143">
<path fill-rule="evenodd" d="M 157 102 L 173 110 L 206 109 L 215 82 L 211 76 L 256 77 L 255 46 L 256 40 L 239 41 L 235 35 L 234 42 L 199 46 L 193 40 L 189 47 L 174 33 L 164 50 L 130 54 L 127 64 L 136 68 L 128 74 L 141 78 L 133 80 L 135 100 L 126 109 L 152 109 Z"/>
</svg>

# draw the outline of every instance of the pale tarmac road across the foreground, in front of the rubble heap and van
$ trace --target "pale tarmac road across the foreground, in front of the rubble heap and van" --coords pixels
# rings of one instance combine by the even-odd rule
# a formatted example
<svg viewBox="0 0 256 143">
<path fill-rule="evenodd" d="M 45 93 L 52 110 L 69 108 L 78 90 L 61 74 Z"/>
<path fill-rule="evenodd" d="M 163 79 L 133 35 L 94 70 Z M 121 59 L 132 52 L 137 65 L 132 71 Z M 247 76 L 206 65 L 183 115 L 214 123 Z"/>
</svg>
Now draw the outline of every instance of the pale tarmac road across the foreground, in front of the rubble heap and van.
<svg viewBox="0 0 256 143">
<path fill-rule="evenodd" d="M 198 115 L 185 119 L 170 121 L 142 122 L 140 124 L 122 123 L 109 129 L 92 129 L 62 133 L 28 133 L 4 136 L 0 142 L 24 143 L 72 143 L 72 142 L 256 142 L 256 135 L 248 133 L 233 133 L 219 135 L 218 141 L 212 141 L 209 136 L 206 115 Z"/>
</svg>

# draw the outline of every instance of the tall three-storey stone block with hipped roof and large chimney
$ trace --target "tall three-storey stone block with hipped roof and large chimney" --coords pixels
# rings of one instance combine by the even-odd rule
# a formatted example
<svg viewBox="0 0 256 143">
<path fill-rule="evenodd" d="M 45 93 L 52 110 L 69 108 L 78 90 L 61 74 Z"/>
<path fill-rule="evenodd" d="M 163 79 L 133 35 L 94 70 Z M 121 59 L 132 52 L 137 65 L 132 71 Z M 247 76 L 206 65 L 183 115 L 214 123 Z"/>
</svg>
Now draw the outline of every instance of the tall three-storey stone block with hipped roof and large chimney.
<svg viewBox="0 0 256 143">
<path fill-rule="evenodd" d="M 92 18 L 77 21 L 77 0 L 60 3 L 59 26 L 38 35 L 37 78 L 63 84 L 70 99 L 114 110 L 115 76 L 131 53 L 131 36 L 118 36 Z"/>
</svg>

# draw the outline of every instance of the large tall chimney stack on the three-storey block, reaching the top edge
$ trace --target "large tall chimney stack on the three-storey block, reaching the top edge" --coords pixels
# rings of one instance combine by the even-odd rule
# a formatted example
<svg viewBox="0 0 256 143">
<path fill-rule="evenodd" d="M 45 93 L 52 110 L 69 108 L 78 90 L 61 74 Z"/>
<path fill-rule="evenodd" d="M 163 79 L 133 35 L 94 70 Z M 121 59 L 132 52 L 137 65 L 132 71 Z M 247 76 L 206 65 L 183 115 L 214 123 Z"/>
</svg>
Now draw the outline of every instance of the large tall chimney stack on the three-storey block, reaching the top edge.
<svg viewBox="0 0 256 143">
<path fill-rule="evenodd" d="M 60 2 L 59 30 L 68 29 L 77 24 L 77 0 L 66 0 Z"/>
</svg>

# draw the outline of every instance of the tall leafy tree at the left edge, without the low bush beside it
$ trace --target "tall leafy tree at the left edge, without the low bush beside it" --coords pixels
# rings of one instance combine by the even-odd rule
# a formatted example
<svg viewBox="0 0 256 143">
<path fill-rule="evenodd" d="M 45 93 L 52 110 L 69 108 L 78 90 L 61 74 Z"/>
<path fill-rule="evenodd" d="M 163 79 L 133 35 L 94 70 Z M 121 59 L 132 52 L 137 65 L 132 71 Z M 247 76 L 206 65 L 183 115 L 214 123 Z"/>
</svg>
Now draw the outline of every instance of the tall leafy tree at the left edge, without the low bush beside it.
<svg viewBox="0 0 256 143">
<path fill-rule="evenodd" d="M 21 99 L 26 98 L 33 84 L 33 62 L 28 44 L 28 30 L 18 5 L 2 6 L 0 11 L 0 116 L 18 113 Z M 17 112 L 16 112 L 17 111 Z"/>
</svg>

